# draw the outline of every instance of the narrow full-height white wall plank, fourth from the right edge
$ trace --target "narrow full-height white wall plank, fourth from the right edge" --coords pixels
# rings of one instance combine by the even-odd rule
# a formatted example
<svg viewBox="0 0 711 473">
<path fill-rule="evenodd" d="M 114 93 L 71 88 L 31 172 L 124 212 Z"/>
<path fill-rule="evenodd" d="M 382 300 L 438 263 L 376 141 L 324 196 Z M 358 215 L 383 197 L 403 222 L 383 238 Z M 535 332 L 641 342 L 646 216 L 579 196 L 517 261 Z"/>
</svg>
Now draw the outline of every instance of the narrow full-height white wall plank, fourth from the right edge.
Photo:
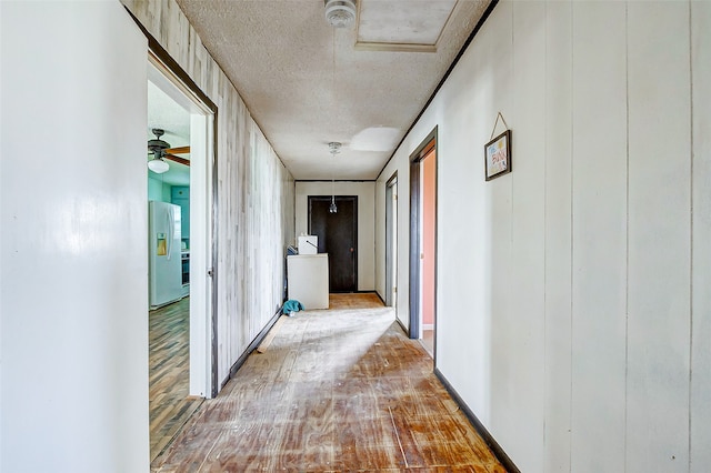
<svg viewBox="0 0 711 473">
<path fill-rule="evenodd" d="M 545 472 L 570 471 L 572 6 L 545 3 Z"/>
</svg>

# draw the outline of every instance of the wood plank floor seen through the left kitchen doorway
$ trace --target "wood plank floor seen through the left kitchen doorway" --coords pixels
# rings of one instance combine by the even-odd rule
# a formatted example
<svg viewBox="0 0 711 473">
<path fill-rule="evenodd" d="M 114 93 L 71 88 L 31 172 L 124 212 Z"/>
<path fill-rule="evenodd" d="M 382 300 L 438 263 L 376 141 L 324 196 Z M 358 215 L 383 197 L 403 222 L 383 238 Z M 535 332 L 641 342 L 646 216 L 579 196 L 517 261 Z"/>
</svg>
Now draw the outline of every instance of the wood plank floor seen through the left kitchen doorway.
<svg viewBox="0 0 711 473">
<path fill-rule="evenodd" d="M 190 298 L 149 312 L 151 461 L 200 407 L 189 397 Z"/>
</svg>

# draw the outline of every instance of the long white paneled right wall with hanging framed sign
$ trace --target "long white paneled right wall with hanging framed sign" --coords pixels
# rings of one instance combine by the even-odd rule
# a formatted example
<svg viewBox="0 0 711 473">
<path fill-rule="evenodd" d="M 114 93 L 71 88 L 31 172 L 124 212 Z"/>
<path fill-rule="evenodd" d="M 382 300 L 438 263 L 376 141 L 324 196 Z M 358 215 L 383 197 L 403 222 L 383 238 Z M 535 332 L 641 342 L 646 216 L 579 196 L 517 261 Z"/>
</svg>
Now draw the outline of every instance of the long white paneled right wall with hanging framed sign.
<svg viewBox="0 0 711 473">
<path fill-rule="evenodd" d="M 439 127 L 437 368 L 521 471 L 708 469 L 710 44 L 711 2 L 501 2 L 379 178 L 382 294 L 385 182 L 408 215 Z"/>
</svg>

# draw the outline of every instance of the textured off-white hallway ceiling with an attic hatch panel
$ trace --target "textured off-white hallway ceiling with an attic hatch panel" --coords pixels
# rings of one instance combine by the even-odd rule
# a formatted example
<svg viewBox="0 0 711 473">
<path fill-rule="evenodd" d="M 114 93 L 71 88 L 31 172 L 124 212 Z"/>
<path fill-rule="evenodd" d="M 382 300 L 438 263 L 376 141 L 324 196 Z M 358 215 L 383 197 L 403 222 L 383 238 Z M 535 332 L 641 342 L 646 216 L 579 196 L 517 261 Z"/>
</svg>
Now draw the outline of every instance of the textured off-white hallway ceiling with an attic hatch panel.
<svg viewBox="0 0 711 473">
<path fill-rule="evenodd" d="M 323 0 L 177 1 L 297 180 L 375 179 L 489 4 L 360 0 L 333 29 Z"/>
</svg>

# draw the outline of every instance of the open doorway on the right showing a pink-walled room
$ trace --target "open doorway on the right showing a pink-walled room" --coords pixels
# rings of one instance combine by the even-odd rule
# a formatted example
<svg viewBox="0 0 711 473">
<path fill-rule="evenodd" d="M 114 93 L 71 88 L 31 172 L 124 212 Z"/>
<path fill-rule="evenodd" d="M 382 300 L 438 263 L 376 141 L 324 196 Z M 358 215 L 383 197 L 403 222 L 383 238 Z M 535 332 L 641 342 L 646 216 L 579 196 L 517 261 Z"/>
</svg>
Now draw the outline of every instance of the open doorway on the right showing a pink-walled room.
<svg viewBox="0 0 711 473">
<path fill-rule="evenodd" d="M 410 157 L 410 338 L 434 356 L 437 329 L 437 129 Z"/>
</svg>

